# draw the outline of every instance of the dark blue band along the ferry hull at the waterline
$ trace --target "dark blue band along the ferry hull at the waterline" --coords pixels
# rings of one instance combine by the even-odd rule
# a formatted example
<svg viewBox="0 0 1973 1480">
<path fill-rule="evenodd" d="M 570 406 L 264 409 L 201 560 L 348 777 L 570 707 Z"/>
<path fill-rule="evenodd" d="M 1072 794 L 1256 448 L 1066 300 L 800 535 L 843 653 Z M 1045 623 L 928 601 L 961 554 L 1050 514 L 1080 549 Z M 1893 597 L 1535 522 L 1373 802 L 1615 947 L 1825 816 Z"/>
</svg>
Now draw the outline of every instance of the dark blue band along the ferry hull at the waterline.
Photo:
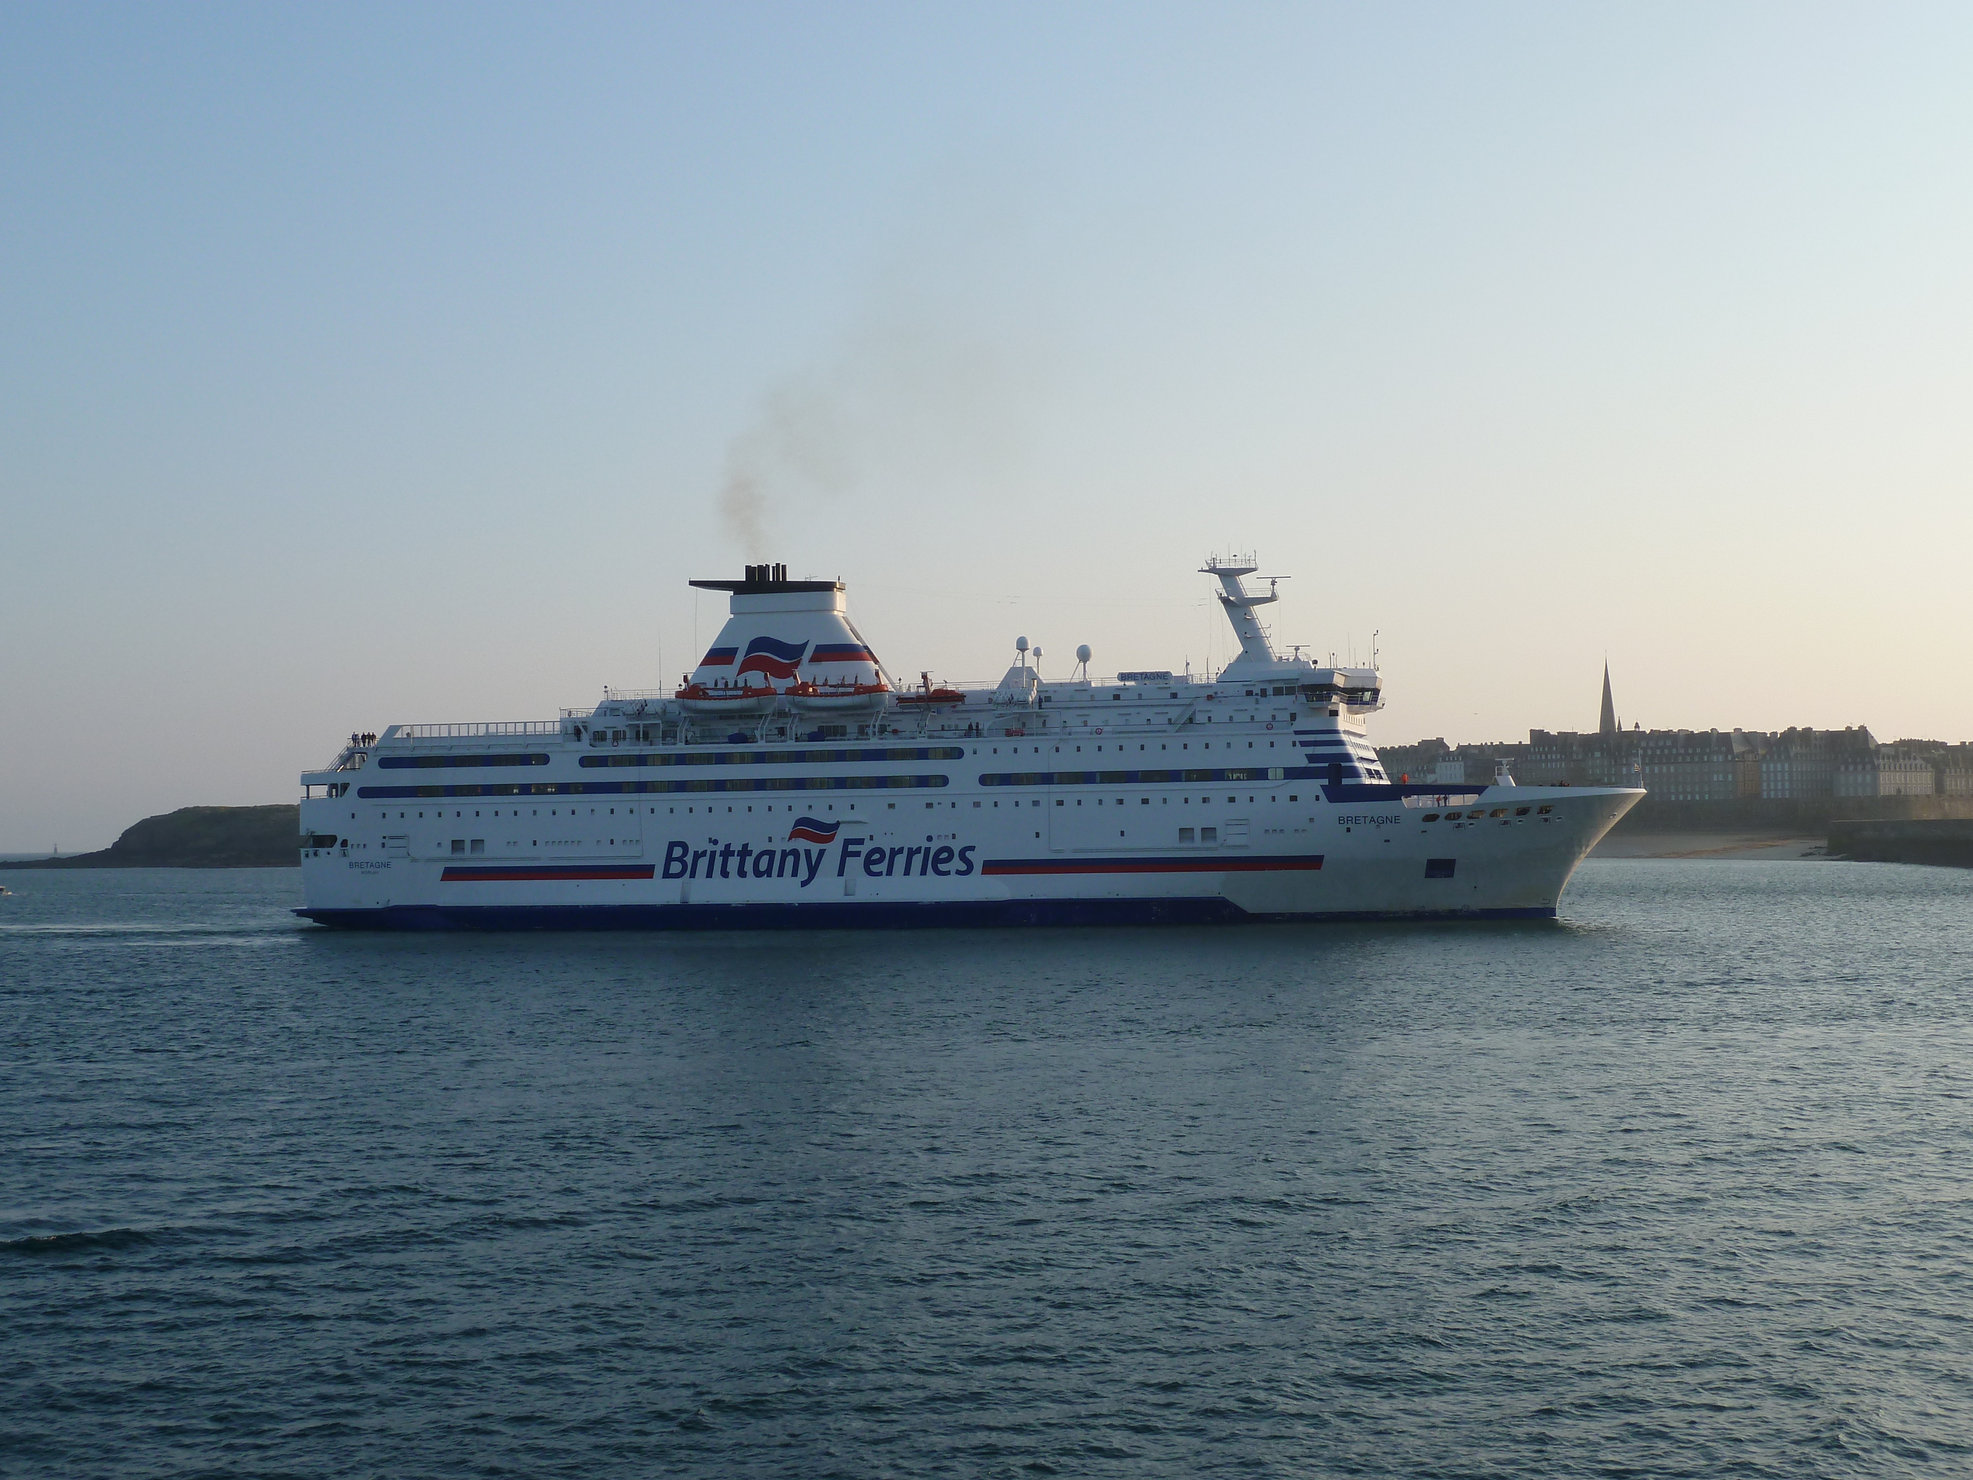
<svg viewBox="0 0 1973 1480">
<path fill-rule="evenodd" d="M 943 900 L 925 904 L 393 904 L 296 910 L 345 929 L 913 929 L 979 925 L 1233 925 L 1377 920 L 1553 920 L 1553 908 L 1251 914 L 1231 900 Z"/>
</svg>

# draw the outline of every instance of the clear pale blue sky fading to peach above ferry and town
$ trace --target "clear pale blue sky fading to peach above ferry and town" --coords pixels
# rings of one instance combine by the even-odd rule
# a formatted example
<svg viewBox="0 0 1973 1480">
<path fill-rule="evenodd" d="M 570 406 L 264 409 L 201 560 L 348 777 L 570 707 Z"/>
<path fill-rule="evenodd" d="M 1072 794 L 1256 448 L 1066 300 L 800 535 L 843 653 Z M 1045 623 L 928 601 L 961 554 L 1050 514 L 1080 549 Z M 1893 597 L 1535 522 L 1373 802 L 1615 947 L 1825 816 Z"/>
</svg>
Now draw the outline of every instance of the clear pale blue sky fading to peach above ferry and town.
<svg viewBox="0 0 1973 1480">
<path fill-rule="evenodd" d="M 0 851 L 677 683 L 1973 738 L 1973 8 L 0 6 Z"/>
</svg>

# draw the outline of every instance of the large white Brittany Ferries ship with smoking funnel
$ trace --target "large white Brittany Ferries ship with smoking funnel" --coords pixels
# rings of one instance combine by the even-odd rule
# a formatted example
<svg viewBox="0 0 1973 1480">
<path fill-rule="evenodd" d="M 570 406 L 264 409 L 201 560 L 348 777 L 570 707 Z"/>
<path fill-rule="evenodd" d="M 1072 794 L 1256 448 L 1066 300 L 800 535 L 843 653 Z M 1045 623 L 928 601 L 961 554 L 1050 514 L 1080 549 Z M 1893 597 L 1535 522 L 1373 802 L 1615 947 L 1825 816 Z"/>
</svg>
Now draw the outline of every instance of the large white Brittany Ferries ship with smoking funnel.
<svg viewBox="0 0 1973 1480">
<path fill-rule="evenodd" d="M 1553 916 L 1632 787 L 1387 776 L 1375 667 L 1275 651 L 1251 560 L 1207 560 L 1239 657 L 900 685 L 839 580 L 748 566 L 677 691 L 393 724 L 302 774 L 298 914 L 397 929 L 1089 925 Z"/>
</svg>

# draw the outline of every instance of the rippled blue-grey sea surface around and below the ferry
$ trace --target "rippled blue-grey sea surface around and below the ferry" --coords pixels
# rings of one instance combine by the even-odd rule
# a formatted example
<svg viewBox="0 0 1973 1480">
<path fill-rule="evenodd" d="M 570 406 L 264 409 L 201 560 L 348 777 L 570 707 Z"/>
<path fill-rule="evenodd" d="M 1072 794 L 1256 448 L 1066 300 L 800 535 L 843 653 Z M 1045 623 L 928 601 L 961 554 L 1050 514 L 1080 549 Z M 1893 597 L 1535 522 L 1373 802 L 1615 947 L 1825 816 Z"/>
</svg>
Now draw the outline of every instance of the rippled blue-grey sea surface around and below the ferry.
<svg viewBox="0 0 1973 1480">
<path fill-rule="evenodd" d="M 1973 874 L 1553 925 L 0 900 L 0 1472 L 1973 1470 Z"/>
</svg>

